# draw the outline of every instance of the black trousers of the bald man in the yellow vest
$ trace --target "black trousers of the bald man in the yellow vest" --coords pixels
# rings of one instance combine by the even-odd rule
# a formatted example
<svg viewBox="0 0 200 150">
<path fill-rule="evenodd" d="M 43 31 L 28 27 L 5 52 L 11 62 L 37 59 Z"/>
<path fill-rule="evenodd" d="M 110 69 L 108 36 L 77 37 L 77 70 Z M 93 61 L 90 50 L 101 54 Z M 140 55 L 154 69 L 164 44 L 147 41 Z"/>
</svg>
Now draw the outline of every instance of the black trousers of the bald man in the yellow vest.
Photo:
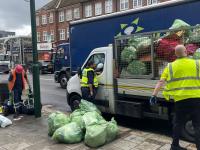
<svg viewBox="0 0 200 150">
<path fill-rule="evenodd" d="M 175 103 L 172 145 L 179 145 L 180 134 L 188 118 L 192 120 L 196 146 L 200 150 L 200 98 L 190 98 Z"/>
</svg>

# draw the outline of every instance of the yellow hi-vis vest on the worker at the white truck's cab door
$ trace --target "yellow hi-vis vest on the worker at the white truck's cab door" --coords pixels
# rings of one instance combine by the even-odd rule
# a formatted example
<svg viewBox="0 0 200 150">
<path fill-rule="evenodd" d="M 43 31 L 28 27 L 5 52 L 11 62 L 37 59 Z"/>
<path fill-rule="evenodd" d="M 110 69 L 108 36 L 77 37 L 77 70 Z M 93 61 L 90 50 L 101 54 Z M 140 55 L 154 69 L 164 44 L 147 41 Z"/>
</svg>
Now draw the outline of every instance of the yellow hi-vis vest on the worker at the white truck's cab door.
<svg viewBox="0 0 200 150">
<path fill-rule="evenodd" d="M 88 84 L 88 72 L 89 71 L 93 71 L 94 72 L 94 69 L 92 68 L 85 68 L 83 70 L 83 73 L 82 73 L 82 79 L 81 79 L 81 87 L 89 87 L 89 84 Z M 94 87 L 98 87 L 98 80 L 97 80 L 97 75 L 95 74 L 94 72 L 94 81 L 93 81 L 93 85 Z"/>
</svg>

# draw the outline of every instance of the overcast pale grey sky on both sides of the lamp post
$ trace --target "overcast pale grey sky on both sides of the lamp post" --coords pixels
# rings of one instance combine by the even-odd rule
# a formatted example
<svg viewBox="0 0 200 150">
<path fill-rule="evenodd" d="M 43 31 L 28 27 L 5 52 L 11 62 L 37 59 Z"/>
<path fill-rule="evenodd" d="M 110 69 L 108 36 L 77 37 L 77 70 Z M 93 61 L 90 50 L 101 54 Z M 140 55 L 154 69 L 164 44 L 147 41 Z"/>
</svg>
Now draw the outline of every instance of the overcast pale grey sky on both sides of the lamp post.
<svg viewBox="0 0 200 150">
<path fill-rule="evenodd" d="M 49 1 L 35 0 L 36 9 Z M 0 30 L 14 31 L 17 35 L 28 35 L 31 32 L 30 24 L 28 2 L 25 0 L 0 0 Z"/>
</svg>

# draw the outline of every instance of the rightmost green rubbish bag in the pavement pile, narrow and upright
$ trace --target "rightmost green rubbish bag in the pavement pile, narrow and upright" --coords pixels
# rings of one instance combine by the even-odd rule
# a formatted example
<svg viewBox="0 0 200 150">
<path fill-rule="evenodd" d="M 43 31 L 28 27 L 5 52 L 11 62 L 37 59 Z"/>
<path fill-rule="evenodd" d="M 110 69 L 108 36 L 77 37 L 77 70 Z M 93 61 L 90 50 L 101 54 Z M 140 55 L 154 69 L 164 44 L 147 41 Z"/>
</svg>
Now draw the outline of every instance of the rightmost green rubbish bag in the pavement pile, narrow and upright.
<svg viewBox="0 0 200 150">
<path fill-rule="evenodd" d="M 112 118 L 111 121 L 107 123 L 106 131 L 107 131 L 106 142 L 111 142 L 117 137 L 119 128 L 114 118 Z"/>
</svg>

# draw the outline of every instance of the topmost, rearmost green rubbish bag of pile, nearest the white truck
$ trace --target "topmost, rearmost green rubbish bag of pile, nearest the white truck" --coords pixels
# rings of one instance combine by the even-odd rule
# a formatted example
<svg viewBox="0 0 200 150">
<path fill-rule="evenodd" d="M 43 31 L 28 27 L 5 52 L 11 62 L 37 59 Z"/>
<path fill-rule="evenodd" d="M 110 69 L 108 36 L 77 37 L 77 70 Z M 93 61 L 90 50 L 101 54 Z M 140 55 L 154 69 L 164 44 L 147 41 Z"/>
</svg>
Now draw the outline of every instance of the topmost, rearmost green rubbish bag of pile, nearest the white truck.
<svg viewBox="0 0 200 150">
<path fill-rule="evenodd" d="M 90 112 L 90 111 L 96 111 L 99 114 L 101 114 L 101 112 L 99 111 L 99 109 L 91 102 L 88 102 L 86 100 L 81 100 L 81 103 L 79 104 L 79 108 L 82 111 L 86 111 L 86 112 Z"/>
</svg>

